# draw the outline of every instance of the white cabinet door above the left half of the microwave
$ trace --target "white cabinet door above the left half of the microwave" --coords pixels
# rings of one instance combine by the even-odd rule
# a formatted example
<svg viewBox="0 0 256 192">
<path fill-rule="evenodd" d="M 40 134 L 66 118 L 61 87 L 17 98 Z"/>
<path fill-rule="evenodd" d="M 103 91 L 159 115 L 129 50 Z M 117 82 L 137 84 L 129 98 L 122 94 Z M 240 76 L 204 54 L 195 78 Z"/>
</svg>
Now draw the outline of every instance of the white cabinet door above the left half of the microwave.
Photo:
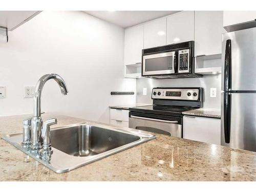
<svg viewBox="0 0 256 192">
<path fill-rule="evenodd" d="M 144 24 L 144 49 L 166 45 L 166 18 Z"/>
</svg>

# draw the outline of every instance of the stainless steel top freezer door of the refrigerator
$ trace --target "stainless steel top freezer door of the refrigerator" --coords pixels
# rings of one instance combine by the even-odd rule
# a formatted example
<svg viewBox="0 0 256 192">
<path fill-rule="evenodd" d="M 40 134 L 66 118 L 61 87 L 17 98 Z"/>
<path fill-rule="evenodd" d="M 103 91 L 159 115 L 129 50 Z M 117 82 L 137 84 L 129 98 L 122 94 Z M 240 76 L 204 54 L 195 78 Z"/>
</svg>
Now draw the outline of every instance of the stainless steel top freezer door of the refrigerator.
<svg viewBox="0 0 256 192">
<path fill-rule="evenodd" d="M 230 90 L 256 90 L 256 28 L 223 34 L 222 63 L 222 90 L 227 91 L 224 88 L 227 78 L 230 78 Z"/>
</svg>

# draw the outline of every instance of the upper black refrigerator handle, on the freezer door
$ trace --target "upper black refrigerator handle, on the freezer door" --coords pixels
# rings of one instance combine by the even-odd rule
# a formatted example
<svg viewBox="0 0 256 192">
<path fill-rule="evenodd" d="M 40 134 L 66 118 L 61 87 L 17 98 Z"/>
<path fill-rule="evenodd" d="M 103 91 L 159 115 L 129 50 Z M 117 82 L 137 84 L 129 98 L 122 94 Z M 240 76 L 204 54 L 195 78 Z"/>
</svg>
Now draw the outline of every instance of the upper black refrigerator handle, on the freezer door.
<svg viewBox="0 0 256 192">
<path fill-rule="evenodd" d="M 231 39 L 226 41 L 224 62 L 224 91 L 231 89 Z"/>
</svg>

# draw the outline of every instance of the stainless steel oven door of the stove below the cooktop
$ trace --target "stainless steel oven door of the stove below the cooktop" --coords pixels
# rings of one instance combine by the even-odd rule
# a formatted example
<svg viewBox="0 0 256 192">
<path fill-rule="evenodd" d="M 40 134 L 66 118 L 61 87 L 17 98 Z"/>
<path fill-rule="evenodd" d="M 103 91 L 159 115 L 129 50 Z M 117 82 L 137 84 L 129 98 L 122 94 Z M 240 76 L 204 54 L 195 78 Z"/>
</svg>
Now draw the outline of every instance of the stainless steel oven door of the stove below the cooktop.
<svg viewBox="0 0 256 192">
<path fill-rule="evenodd" d="M 131 115 L 129 127 L 136 130 L 148 131 L 174 137 L 182 136 L 182 126 L 179 120 L 162 120 Z"/>
</svg>

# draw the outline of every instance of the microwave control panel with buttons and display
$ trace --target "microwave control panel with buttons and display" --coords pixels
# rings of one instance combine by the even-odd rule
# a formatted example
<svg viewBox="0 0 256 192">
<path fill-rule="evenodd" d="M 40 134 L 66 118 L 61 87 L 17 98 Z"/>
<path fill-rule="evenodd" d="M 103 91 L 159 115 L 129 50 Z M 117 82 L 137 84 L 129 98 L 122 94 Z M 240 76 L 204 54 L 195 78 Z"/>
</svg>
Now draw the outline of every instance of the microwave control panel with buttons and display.
<svg viewBox="0 0 256 192">
<path fill-rule="evenodd" d="M 178 73 L 189 72 L 189 49 L 179 51 L 179 69 Z"/>
</svg>

